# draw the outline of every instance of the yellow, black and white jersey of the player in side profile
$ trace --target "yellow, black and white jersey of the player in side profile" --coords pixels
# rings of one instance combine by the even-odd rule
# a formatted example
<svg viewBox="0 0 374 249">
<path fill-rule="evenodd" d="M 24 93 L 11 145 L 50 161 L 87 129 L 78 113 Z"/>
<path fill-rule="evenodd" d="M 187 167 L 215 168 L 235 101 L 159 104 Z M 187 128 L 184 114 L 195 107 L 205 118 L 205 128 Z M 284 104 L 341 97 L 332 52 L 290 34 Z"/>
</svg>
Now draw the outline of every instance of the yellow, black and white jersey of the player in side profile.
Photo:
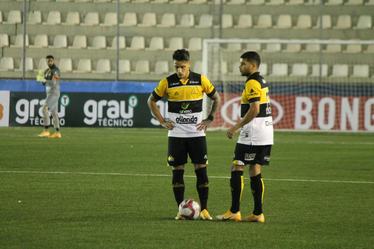
<svg viewBox="0 0 374 249">
<path fill-rule="evenodd" d="M 255 72 L 249 76 L 241 95 L 240 117 L 243 118 L 253 102 L 260 102 L 258 115 L 241 128 L 238 143 L 248 145 L 269 145 L 273 143 L 273 119 L 269 88 L 264 78 Z"/>
</svg>

